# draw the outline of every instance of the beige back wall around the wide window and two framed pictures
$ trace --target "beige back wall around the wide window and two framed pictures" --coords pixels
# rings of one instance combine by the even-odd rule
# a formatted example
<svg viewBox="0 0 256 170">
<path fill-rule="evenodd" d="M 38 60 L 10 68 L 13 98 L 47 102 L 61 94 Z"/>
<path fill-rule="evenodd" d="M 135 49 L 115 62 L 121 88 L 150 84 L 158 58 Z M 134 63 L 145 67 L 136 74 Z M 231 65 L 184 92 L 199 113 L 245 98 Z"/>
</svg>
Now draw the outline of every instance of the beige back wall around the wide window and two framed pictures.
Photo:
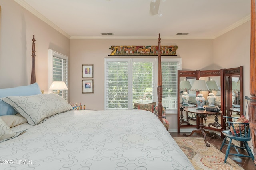
<svg viewBox="0 0 256 170">
<path fill-rule="evenodd" d="M 70 40 L 70 102 L 104 109 L 104 58 L 109 57 L 111 45 L 158 45 L 158 40 Z M 178 45 L 173 57 L 182 58 L 183 70 L 213 68 L 212 40 L 161 40 L 161 45 Z M 94 65 L 94 93 L 82 94 L 82 64 Z"/>
</svg>

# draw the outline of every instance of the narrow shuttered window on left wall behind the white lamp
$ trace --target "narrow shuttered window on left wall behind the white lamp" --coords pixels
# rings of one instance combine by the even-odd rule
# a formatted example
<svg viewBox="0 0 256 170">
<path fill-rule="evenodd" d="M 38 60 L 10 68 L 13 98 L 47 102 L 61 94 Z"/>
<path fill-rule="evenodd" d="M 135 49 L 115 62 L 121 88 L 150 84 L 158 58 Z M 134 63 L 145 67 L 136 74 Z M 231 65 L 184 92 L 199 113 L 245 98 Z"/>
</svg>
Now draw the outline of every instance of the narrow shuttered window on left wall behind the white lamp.
<svg viewBox="0 0 256 170">
<path fill-rule="evenodd" d="M 53 81 L 64 81 L 68 87 L 68 57 L 48 50 L 48 89 Z M 57 90 L 53 90 L 57 92 Z M 68 102 L 68 90 L 60 90 L 58 95 Z"/>
</svg>

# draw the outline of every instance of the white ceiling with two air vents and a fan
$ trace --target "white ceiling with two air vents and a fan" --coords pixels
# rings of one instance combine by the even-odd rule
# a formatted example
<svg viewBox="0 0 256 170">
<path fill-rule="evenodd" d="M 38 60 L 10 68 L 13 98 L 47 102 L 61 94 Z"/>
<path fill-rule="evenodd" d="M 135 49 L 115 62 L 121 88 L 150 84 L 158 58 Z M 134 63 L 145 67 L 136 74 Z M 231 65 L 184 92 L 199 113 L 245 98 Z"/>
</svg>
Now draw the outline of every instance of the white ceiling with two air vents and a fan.
<svg viewBox="0 0 256 170">
<path fill-rule="evenodd" d="M 161 17 L 154 0 L 15 1 L 70 39 L 214 39 L 250 20 L 250 0 L 161 0 Z"/>
</svg>

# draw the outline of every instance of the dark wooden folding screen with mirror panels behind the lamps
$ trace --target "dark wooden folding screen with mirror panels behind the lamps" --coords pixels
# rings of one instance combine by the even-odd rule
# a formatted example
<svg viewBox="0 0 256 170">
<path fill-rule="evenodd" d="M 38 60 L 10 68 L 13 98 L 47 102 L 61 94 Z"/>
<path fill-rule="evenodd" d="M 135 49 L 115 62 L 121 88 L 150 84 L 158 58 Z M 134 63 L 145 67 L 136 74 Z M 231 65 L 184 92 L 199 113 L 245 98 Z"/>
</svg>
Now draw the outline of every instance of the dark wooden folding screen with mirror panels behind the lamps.
<svg viewBox="0 0 256 170">
<path fill-rule="evenodd" d="M 178 70 L 178 87 L 180 88 L 180 82 L 184 79 L 191 82 L 196 79 L 203 79 L 205 81 L 215 80 L 220 90 L 212 90 L 214 93 L 215 102 L 214 106 L 217 106 L 222 111 L 222 114 L 218 117 L 207 117 L 205 121 L 205 129 L 211 129 L 214 131 L 222 131 L 226 129 L 225 122 L 223 116 L 239 116 L 243 115 L 243 77 L 242 77 L 242 66 L 238 68 L 230 68 L 230 69 L 220 69 L 220 70 L 206 70 L 206 71 L 180 71 Z M 233 86 L 232 86 L 233 81 Z M 235 83 L 234 83 L 235 82 Z M 182 127 L 196 127 L 199 129 L 199 119 L 196 115 L 192 115 L 191 113 L 187 113 L 183 111 L 185 108 L 182 106 L 182 93 L 184 91 L 180 90 L 178 92 L 178 133 L 180 133 L 180 128 Z M 187 90 L 189 95 L 189 104 L 194 104 L 194 99 L 196 92 L 191 90 Z M 207 99 L 208 92 L 202 92 L 204 97 Z M 204 94 L 205 93 L 205 94 Z M 206 105 L 207 107 L 208 105 Z M 240 108 L 239 108 L 240 107 Z M 240 111 L 240 113 L 239 113 Z M 185 113 L 184 113 L 185 112 Z M 238 114 L 239 113 L 239 114 Z M 217 121 L 217 123 L 216 123 Z M 223 136 L 222 136 L 223 137 Z"/>
</svg>

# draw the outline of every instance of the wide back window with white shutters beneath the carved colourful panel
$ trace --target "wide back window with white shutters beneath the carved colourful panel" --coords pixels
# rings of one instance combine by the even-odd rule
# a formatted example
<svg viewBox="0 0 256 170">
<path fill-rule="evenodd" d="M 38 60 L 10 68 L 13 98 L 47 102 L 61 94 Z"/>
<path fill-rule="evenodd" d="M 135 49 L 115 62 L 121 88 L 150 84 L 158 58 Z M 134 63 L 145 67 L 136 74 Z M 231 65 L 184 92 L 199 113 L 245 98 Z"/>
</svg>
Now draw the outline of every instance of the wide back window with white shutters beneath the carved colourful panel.
<svg viewBox="0 0 256 170">
<path fill-rule="evenodd" d="M 163 107 L 177 109 L 177 70 L 181 59 L 162 58 Z M 105 59 L 105 109 L 157 102 L 158 58 Z"/>
</svg>

